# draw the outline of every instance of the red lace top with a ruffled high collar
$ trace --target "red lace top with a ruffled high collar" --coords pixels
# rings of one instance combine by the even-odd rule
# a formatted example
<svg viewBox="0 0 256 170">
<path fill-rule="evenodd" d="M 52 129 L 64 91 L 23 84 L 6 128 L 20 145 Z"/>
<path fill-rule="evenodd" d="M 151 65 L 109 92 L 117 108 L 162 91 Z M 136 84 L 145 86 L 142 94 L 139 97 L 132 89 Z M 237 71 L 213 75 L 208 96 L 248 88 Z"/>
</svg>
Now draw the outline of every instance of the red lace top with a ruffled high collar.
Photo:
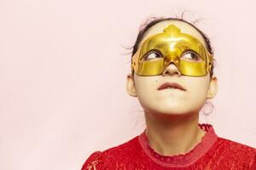
<svg viewBox="0 0 256 170">
<path fill-rule="evenodd" d="M 211 124 L 198 125 L 206 133 L 185 154 L 161 156 L 149 146 L 145 129 L 124 144 L 93 152 L 82 170 L 256 170 L 255 148 L 218 137 Z"/>
</svg>

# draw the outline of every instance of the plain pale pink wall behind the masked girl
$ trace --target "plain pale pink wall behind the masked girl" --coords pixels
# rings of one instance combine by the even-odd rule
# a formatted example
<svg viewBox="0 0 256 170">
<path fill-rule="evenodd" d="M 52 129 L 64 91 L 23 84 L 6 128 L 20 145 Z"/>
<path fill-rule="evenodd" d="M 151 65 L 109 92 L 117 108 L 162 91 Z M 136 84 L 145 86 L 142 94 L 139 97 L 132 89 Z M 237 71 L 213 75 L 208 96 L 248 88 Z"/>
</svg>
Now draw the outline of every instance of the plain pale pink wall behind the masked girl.
<svg viewBox="0 0 256 170">
<path fill-rule="evenodd" d="M 149 16 L 201 19 L 215 51 L 218 136 L 256 147 L 256 25 L 251 1 L 0 2 L 0 169 L 80 169 L 143 131 L 125 91 L 131 47 Z"/>
</svg>

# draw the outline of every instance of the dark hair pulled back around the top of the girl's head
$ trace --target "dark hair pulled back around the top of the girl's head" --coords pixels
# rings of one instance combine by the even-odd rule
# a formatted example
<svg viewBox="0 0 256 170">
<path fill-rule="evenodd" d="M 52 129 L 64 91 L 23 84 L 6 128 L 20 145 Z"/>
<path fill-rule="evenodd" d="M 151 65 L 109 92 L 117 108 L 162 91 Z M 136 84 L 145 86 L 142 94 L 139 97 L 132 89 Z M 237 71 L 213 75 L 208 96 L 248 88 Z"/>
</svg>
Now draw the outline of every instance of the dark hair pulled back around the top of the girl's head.
<svg viewBox="0 0 256 170">
<path fill-rule="evenodd" d="M 153 20 L 152 20 L 153 19 Z M 148 22 L 148 20 L 150 20 L 150 22 Z M 197 27 L 195 27 L 193 24 L 189 23 L 188 21 L 186 20 L 183 20 L 183 17 L 182 18 L 165 18 L 165 17 L 152 17 L 152 18 L 149 18 L 148 20 L 146 20 L 143 25 L 141 26 L 142 28 L 140 29 L 138 35 L 137 35 L 137 40 L 135 42 L 135 44 L 132 46 L 132 53 L 131 53 L 131 57 L 136 54 L 137 52 L 137 49 L 138 49 L 138 46 L 139 46 L 139 43 L 142 41 L 143 37 L 144 37 L 144 34 L 146 31 L 148 31 L 148 29 L 151 27 L 151 26 L 154 26 L 155 24 L 159 23 L 160 21 L 164 21 L 164 20 L 180 20 L 180 21 L 183 21 L 187 24 L 189 24 L 190 26 L 193 26 L 195 28 L 196 31 L 199 31 L 199 33 L 201 34 L 201 36 L 204 38 L 205 42 L 206 42 L 206 45 L 207 45 L 207 50 L 210 54 L 212 54 L 213 56 L 213 51 L 212 51 L 212 47 L 211 47 L 211 42 L 209 40 L 209 38 L 207 37 L 207 35 L 205 33 L 203 33 L 201 30 L 199 30 Z M 212 60 L 212 68 L 211 68 L 211 71 L 210 71 L 210 77 L 212 77 L 213 75 L 213 67 L 214 67 L 214 61 L 215 59 Z M 132 70 L 132 76 L 134 75 L 134 71 Z"/>
</svg>

